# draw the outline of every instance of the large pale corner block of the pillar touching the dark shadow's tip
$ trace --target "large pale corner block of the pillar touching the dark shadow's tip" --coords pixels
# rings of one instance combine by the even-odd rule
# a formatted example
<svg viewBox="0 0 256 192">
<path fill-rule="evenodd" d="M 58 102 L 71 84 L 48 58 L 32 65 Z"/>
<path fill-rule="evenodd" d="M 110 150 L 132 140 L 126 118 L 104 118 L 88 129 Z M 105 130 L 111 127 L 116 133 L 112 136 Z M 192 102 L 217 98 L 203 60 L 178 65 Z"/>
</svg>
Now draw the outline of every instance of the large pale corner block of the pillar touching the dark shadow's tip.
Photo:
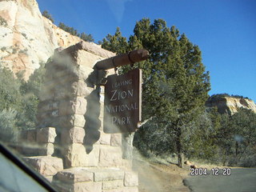
<svg viewBox="0 0 256 192">
<path fill-rule="evenodd" d="M 66 167 L 74 166 L 98 166 L 99 146 L 94 145 L 90 154 L 86 154 L 86 148 L 82 144 L 73 143 L 64 150 Z"/>
</svg>

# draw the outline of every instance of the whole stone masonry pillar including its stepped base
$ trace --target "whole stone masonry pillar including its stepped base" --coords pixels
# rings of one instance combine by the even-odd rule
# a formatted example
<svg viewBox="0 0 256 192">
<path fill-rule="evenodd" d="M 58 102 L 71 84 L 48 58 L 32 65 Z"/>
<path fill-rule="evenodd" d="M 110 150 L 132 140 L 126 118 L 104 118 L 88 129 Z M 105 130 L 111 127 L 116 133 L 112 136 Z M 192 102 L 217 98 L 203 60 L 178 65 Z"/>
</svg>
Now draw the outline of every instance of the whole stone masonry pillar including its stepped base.
<svg viewBox="0 0 256 192">
<path fill-rule="evenodd" d="M 79 42 L 55 50 L 46 64 L 38 105 L 38 129 L 54 127 L 54 154 L 64 170 L 54 175 L 60 191 L 138 192 L 138 174 L 122 158 L 122 134 L 103 132 L 104 86 L 99 80 L 112 70 L 94 70 L 99 60 L 115 54 Z M 129 145 L 128 145 L 129 146 Z"/>
</svg>

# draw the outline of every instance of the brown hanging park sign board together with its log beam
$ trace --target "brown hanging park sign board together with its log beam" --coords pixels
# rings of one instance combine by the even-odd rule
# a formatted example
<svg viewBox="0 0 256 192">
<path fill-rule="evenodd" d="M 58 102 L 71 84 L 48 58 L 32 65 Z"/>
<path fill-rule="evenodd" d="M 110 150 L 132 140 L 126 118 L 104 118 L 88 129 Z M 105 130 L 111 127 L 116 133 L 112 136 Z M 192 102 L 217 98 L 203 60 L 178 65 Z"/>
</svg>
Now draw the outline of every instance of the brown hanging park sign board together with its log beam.
<svg viewBox="0 0 256 192">
<path fill-rule="evenodd" d="M 109 70 L 149 58 L 147 50 L 132 50 L 106 58 L 95 64 L 95 70 Z M 108 134 L 130 133 L 138 129 L 142 118 L 142 70 L 110 75 L 105 85 L 103 131 Z"/>
</svg>

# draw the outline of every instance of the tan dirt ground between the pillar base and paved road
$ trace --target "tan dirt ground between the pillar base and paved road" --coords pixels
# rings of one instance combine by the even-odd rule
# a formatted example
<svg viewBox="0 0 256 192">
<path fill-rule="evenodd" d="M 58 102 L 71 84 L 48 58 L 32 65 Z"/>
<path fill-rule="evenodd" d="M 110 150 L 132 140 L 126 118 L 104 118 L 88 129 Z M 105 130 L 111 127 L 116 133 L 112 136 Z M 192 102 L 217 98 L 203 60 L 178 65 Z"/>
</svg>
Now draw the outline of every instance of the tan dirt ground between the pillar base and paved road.
<svg viewBox="0 0 256 192">
<path fill-rule="evenodd" d="M 190 192 L 182 182 L 190 174 L 189 166 L 134 160 L 134 170 L 138 171 L 139 192 Z"/>
</svg>

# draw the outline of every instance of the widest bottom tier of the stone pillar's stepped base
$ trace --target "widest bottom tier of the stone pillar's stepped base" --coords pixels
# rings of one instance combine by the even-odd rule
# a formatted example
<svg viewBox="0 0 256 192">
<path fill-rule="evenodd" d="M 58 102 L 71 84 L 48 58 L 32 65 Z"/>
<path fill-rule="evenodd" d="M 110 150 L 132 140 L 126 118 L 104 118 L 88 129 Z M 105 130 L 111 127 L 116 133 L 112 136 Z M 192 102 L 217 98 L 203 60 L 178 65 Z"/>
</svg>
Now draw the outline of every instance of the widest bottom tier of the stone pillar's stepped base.
<svg viewBox="0 0 256 192">
<path fill-rule="evenodd" d="M 118 168 L 74 167 L 58 171 L 53 184 L 62 192 L 136 192 L 138 175 Z"/>
</svg>

